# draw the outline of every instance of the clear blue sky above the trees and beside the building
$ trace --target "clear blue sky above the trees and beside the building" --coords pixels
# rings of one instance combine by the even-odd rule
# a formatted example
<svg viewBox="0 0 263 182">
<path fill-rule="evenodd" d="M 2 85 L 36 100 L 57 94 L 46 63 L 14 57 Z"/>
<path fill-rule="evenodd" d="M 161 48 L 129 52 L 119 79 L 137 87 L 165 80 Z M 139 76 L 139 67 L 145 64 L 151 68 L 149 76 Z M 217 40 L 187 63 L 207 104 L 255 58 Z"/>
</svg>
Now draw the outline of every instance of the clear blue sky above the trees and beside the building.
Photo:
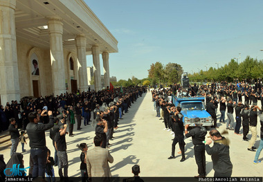
<svg viewBox="0 0 263 182">
<path fill-rule="evenodd" d="M 84 1 L 118 40 L 119 52 L 109 55 L 117 80 L 147 78 L 155 62 L 192 73 L 224 66 L 239 53 L 239 62 L 248 55 L 263 60 L 262 0 Z"/>
</svg>

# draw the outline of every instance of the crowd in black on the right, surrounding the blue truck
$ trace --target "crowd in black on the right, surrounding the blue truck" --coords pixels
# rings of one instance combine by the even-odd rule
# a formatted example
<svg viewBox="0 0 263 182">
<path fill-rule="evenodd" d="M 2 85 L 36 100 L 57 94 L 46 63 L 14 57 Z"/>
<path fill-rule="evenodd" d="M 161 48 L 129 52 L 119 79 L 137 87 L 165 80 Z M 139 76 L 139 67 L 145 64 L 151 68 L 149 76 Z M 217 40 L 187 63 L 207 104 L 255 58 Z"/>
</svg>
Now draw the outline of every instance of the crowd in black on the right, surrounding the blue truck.
<svg viewBox="0 0 263 182">
<path fill-rule="evenodd" d="M 199 118 L 196 118 L 197 127 L 191 129 L 188 133 L 189 125 L 183 124 L 183 116 L 181 114 L 181 107 L 175 107 L 169 96 L 176 95 L 180 97 L 196 97 L 203 96 L 206 100 L 205 107 L 206 111 L 212 116 L 213 128 L 210 131 L 210 138 L 214 140 L 214 143 L 221 143 L 225 147 L 224 149 L 219 147 L 219 145 L 214 145 L 213 149 L 210 147 L 205 147 L 206 131 L 201 131 L 202 127 L 200 125 Z M 244 98 L 242 100 L 242 98 Z M 219 109 L 221 116 L 219 122 L 226 123 L 226 129 L 235 130 L 235 134 L 239 134 L 240 127 L 243 127 L 243 140 L 248 141 L 248 151 L 255 152 L 256 147 L 255 140 L 257 139 L 257 116 L 260 118 L 261 123 L 261 140 L 260 146 L 255 154 L 254 164 L 260 163 L 258 161 L 260 152 L 263 149 L 263 114 L 262 107 L 257 106 L 257 102 L 261 102 L 263 106 L 263 87 L 260 81 L 255 85 L 250 85 L 245 82 L 228 83 L 228 82 L 214 82 L 211 84 L 202 84 L 197 86 L 194 84 L 189 88 L 182 88 L 179 84 L 171 85 L 169 89 L 154 89 L 152 90 L 152 101 L 154 102 L 154 110 L 156 110 L 156 117 L 163 120 L 166 131 L 172 131 L 171 134 L 174 135 L 174 140 L 172 143 L 172 155 L 168 159 L 174 157 L 174 148 L 176 143 L 179 143 L 182 158 L 181 162 L 185 161 L 184 146 L 185 142 L 183 133 L 186 137 L 192 136 L 194 144 L 194 155 L 198 165 L 199 176 L 206 176 L 206 158 L 205 149 L 208 154 L 212 154 L 212 161 L 214 163 L 220 163 L 222 167 L 215 166 L 215 176 L 231 176 L 232 174 L 232 163 L 229 158 L 229 141 L 221 136 L 219 131 L 217 131 L 217 109 Z M 226 112 L 227 111 L 227 112 Z M 233 113 L 235 112 L 235 119 Z M 228 116 L 228 120 L 225 120 L 225 115 Z M 247 138 L 248 131 L 251 131 L 251 138 Z M 209 145 L 211 142 L 207 142 Z M 223 146 L 220 145 L 220 146 Z M 221 151 L 219 151 L 221 150 Z M 224 152 L 222 152 L 224 150 Z M 215 158 L 215 152 L 224 154 L 224 159 L 220 161 L 220 158 Z M 214 157 L 213 157 L 214 153 Z M 218 161 L 219 160 L 219 161 Z M 197 176 L 197 177 L 199 177 Z"/>
</svg>

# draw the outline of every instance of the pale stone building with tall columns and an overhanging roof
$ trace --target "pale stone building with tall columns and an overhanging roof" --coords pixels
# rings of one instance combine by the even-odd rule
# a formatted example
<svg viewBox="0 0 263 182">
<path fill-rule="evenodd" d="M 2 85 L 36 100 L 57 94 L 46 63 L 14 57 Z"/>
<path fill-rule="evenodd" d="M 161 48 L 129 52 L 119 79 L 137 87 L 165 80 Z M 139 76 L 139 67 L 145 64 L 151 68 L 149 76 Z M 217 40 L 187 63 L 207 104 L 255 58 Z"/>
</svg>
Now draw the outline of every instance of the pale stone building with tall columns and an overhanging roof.
<svg viewBox="0 0 263 182">
<path fill-rule="evenodd" d="M 118 41 L 83 0 L 0 1 L 3 105 L 24 96 L 87 91 L 86 55 L 93 55 L 98 91 L 100 55 L 109 85 L 109 53 L 118 53 Z"/>
</svg>

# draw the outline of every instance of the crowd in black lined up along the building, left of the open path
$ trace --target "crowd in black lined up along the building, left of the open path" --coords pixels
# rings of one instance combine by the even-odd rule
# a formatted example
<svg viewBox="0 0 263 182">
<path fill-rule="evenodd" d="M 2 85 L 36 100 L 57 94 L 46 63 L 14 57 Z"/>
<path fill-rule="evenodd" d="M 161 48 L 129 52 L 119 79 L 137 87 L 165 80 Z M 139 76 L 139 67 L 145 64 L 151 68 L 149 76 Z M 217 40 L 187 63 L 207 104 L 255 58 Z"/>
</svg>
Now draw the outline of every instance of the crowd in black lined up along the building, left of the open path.
<svg viewBox="0 0 263 182">
<path fill-rule="evenodd" d="M 78 130 L 82 129 L 82 123 L 84 126 L 93 125 L 96 136 L 98 136 L 97 139 L 94 138 L 94 141 L 101 140 L 98 146 L 109 148 L 109 140 L 114 138 L 114 129 L 118 128 L 118 121 L 123 119 L 123 115 L 129 111 L 131 104 L 136 102 L 145 92 L 147 92 L 146 87 L 121 87 L 98 92 L 80 93 L 78 91 L 77 93 L 64 93 L 56 97 L 40 97 L 24 99 L 20 103 L 17 101 L 12 101 L 11 104 L 6 103 L 6 107 L 1 107 L 0 128 L 3 131 L 6 129 L 10 131 L 12 146 L 8 166 L 11 165 L 11 161 L 15 160 L 14 158 L 23 156 L 16 150 L 19 138 L 21 140 L 26 132 L 30 140 L 29 175 L 33 178 L 44 177 L 46 173 L 48 181 L 53 181 L 53 166 L 58 166 L 60 177 L 68 177 L 69 164 L 65 135 L 69 133 L 69 136 L 74 136 L 75 120 L 78 122 Z M 82 118 L 84 118 L 83 121 Z M 21 136 L 19 129 L 23 132 Z M 48 129 L 55 148 L 54 158 L 51 157 L 51 151 L 46 147 L 45 131 Z M 24 137 L 23 141 L 26 143 Z M 80 170 L 83 180 L 86 181 L 88 172 L 87 167 L 84 167 L 86 165 L 84 154 L 87 152 L 87 145 L 82 143 L 78 147 L 83 152 L 80 157 L 82 161 Z M 20 168 L 24 167 L 21 160 L 16 160 L 16 162 L 20 164 Z"/>
</svg>

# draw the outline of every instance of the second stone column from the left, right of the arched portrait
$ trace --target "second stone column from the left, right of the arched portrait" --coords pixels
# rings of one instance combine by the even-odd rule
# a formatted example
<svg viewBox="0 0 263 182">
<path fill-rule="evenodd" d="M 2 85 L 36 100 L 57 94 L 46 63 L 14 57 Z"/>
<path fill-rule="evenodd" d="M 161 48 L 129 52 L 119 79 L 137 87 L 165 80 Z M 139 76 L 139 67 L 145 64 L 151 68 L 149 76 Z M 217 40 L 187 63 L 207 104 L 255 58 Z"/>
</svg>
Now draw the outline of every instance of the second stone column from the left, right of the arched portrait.
<svg viewBox="0 0 263 182">
<path fill-rule="evenodd" d="M 64 55 L 63 55 L 63 24 L 62 19 L 57 16 L 48 17 L 49 43 L 51 44 L 51 73 L 54 96 L 66 92 Z"/>
</svg>

